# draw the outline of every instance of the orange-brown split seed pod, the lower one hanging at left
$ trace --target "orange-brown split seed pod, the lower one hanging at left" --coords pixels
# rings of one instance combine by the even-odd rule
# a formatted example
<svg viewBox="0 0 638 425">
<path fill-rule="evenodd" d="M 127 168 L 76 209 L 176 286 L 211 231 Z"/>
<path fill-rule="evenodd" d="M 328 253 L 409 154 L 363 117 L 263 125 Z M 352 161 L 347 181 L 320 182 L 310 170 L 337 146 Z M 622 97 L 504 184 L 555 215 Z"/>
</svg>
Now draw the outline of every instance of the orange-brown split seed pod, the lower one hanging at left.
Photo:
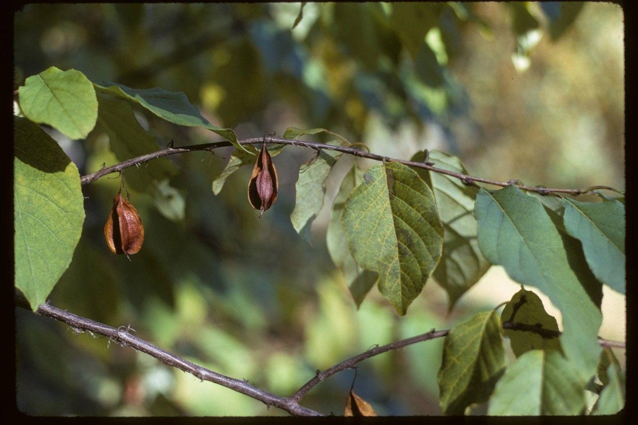
<svg viewBox="0 0 638 425">
<path fill-rule="evenodd" d="M 107 224 L 104 226 L 104 236 L 108 248 L 115 254 L 124 254 L 126 258 L 142 248 L 144 242 L 144 226 L 137 209 L 122 197 L 122 193 L 115 195 L 113 209 L 108 214 Z"/>
</svg>

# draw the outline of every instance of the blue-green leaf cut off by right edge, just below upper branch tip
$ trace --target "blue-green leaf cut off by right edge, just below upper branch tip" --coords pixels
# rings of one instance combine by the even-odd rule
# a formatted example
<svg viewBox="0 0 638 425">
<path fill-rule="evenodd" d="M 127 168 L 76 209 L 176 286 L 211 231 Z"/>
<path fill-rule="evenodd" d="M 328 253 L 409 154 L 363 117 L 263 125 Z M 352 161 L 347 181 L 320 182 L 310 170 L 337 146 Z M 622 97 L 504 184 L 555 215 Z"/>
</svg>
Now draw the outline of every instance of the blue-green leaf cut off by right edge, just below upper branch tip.
<svg viewBox="0 0 638 425">
<path fill-rule="evenodd" d="M 582 242 L 587 264 L 598 280 L 625 294 L 625 205 L 563 198 L 567 233 Z"/>
</svg>

